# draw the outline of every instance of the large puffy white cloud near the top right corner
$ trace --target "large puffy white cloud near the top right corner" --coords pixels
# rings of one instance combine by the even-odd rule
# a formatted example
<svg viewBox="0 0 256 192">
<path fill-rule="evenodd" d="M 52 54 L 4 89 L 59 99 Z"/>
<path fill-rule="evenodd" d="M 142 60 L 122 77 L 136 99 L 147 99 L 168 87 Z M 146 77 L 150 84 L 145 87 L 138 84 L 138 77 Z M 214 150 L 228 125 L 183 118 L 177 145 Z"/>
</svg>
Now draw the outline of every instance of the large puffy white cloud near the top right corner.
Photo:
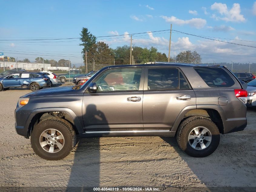
<svg viewBox="0 0 256 192">
<path fill-rule="evenodd" d="M 218 20 L 224 20 L 224 21 L 230 21 L 230 22 L 244 22 L 245 18 L 244 15 L 241 15 L 241 8 L 239 3 L 234 3 L 232 8 L 228 10 L 228 7 L 226 4 L 223 3 L 214 3 L 211 5 L 211 10 L 216 10 L 224 17 L 217 17 L 215 14 L 212 15 L 212 18 Z"/>
</svg>

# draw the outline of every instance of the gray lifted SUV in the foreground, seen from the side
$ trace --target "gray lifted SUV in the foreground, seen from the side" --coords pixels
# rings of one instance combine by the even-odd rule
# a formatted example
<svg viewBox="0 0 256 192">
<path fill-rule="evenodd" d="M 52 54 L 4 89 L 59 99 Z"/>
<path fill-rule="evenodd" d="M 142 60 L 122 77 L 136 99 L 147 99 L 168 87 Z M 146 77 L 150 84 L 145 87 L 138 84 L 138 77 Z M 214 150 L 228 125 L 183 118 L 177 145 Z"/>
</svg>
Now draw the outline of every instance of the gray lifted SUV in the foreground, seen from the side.
<svg viewBox="0 0 256 192">
<path fill-rule="evenodd" d="M 247 91 L 219 66 L 177 63 L 108 66 L 84 85 L 20 97 L 15 129 L 46 160 L 66 157 L 76 137 L 176 136 L 192 157 L 244 130 Z"/>
</svg>

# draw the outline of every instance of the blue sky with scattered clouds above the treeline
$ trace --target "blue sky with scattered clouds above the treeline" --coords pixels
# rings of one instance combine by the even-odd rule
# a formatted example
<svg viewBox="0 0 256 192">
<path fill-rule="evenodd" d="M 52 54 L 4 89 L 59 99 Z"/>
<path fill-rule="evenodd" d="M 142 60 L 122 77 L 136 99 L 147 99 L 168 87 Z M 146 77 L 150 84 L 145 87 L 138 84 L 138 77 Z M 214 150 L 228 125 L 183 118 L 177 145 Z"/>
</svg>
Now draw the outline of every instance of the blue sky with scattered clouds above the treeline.
<svg viewBox="0 0 256 192">
<path fill-rule="evenodd" d="M 31 39 L 79 38 L 82 27 L 111 48 L 130 45 L 128 34 L 148 32 L 133 35 L 133 46 L 154 46 L 168 55 L 170 31 L 162 30 L 172 24 L 171 56 L 195 50 L 203 63 L 256 62 L 256 1 L 0 2 L 0 52 L 18 60 L 40 56 L 81 65 L 79 39 Z M 108 35 L 123 36 L 99 37 Z"/>
</svg>

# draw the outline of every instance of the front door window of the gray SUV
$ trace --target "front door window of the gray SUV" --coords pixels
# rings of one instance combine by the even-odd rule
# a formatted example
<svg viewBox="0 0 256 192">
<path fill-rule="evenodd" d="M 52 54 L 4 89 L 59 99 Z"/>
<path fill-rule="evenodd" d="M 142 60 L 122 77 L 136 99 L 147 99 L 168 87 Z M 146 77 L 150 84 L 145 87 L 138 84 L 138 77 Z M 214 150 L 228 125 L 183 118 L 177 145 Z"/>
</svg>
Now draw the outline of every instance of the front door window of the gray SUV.
<svg viewBox="0 0 256 192">
<path fill-rule="evenodd" d="M 106 71 L 95 81 L 97 91 L 138 90 L 141 69 L 112 69 Z"/>
</svg>

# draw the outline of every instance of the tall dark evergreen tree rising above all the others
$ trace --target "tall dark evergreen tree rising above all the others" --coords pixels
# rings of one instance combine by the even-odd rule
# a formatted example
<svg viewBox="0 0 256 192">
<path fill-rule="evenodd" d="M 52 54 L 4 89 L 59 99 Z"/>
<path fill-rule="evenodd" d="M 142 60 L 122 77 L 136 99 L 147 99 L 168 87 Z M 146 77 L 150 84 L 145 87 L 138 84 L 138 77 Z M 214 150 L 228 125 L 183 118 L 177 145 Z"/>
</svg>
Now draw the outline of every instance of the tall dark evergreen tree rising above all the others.
<svg viewBox="0 0 256 192">
<path fill-rule="evenodd" d="M 80 35 L 81 35 L 80 40 L 83 43 L 81 43 L 79 45 L 83 46 L 81 53 L 83 55 L 83 59 L 84 59 L 84 63 L 85 63 L 85 51 L 88 52 L 91 49 L 91 46 L 96 43 L 96 37 L 94 35 L 92 35 L 91 32 L 89 32 L 88 29 L 85 27 L 82 28 Z"/>
</svg>

